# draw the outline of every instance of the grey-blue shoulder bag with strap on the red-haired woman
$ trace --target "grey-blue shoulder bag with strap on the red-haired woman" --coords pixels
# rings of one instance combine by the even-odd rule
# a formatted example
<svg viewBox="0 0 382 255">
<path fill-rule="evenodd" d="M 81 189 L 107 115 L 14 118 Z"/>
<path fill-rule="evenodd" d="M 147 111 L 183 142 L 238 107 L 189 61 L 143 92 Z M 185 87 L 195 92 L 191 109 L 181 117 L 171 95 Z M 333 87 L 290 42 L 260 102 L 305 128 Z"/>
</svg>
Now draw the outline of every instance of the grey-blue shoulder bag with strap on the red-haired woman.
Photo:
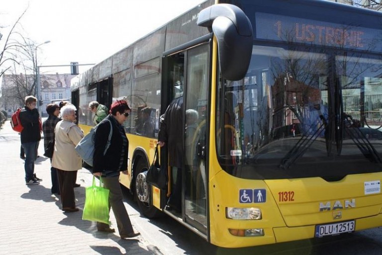
<svg viewBox="0 0 382 255">
<path fill-rule="evenodd" d="M 103 151 L 103 155 L 106 154 L 107 149 L 109 149 L 110 146 L 110 140 L 111 135 L 113 134 L 113 127 L 111 125 L 110 120 L 105 119 L 103 121 L 108 121 L 110 123 L 110 133 L 109 138 L 107 139 L 105 150 Z M 102 121 L 102 122 L 103 122 Z M 84 136 L 81 141 L 76 146 L 76 152 L 81 156 L 81 158 L 88 164 L 89 166 L 93 167 L 93 157 L 94 157 L 94 140 L 95 140 L 95 131 L 97 130 L 97 127 L 102 122 L 99 122 L 94 128 L 90 130 L 90 132 Z"/>
</svg>

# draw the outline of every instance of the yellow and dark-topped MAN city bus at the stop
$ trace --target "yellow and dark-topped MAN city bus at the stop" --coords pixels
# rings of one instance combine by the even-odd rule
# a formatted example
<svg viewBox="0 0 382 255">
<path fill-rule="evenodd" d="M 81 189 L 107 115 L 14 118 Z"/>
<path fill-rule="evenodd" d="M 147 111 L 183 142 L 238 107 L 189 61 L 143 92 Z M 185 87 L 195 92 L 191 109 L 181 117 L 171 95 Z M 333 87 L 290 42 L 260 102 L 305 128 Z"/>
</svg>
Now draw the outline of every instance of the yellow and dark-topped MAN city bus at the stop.
<svg viewBox="0 0 382 255">
<path fill-rule="evenodd" d="M 211 244 L 379 227 L 381 25 L 380 12 L 329 1 L 207 0 L 74 78 L 71 100 L 86 132 L 89 102 L 128 101 L 121 184 L 143 215 L 167 214 Z M 165 209 L 170 167 L 167 189 L 145 178 L 160 116 L 179 96 L 184 167 L 175 212 Z M 167 157 L 163 148 L 165 169 Z"/>
</svg>

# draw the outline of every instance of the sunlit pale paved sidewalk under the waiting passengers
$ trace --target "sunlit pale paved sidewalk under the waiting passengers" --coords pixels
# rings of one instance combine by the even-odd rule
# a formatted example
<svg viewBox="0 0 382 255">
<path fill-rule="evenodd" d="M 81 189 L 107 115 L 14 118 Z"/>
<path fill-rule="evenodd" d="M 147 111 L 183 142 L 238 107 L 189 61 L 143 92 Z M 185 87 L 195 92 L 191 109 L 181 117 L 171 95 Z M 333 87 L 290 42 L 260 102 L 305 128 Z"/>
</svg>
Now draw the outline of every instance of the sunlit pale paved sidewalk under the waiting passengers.
<svg viewBox="0 0 382 255">
<path fill-rule="evenodd" d="M 0 129 L 0 254 L 1 255 L 152 255 L 141 235 L 121 240 L 117 233 L 97 232 L 94 222 L 82 220 L 85 187 L 91 185 L 92 174 L 78 172 L 75 188 L 79 212 L 61 211 L 59 196 L 50 192 L 50 161 L 43 155 L 40 142 L 35 173 L 43 181 L 40 185 L 25 185 L 24 161 L 19 158 L 20 136 L 5 122 Z M 139 213 L 128 208 L 134 229 L 139 232 L 136 219 Z M 112 227 L 116 222 L 110 212 Z M 150 247 L 150 246 L 149 246 Z"/>
</svg>

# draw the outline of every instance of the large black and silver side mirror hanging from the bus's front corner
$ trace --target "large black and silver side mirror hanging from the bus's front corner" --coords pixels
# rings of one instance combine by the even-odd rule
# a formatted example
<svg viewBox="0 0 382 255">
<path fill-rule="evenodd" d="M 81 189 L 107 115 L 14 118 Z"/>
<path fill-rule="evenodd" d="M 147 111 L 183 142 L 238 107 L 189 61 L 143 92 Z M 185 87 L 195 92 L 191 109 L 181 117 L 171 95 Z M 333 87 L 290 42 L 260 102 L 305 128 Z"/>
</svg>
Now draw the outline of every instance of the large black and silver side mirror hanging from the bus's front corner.
<svg viewBox="0 0 382 255">
<path fill-rule="evenodd" d="M 238 81 L 245 77 L 252 56 L 252 25 L 237 6 L 216 4 L 199 12 L 197 24 L 213 31 L 223 77 Z"/>
</svg>

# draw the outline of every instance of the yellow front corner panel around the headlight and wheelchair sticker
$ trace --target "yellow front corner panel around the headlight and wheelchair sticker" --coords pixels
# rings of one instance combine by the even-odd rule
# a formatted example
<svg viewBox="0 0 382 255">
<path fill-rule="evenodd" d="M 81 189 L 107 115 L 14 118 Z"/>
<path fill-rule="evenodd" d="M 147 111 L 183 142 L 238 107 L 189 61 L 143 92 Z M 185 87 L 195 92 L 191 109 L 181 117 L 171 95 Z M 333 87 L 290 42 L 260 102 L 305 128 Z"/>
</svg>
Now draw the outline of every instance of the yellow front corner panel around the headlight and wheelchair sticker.
<svg viewBox="0 0 382 255">
<path fill-rule="evenodd" d="M 220 183 L 220 184 L 219 184 Z M 264 188 L 267 192 L 265 203 L 243 204 L 239 202 L 240 189 Z M 285 226 L 275 200 L 263 180 L 241 179 L 219 171 L 209 183 L 210 239 L 211 243 L 221 247 L 246 247 L 275 243 L 272 228 Z M 262 220 L 232 220 L 226 218 L 226 207 L 260 208 Z M 262 237 L 236 237 L 229 229 L 264 229 Z"/>
</svg>

